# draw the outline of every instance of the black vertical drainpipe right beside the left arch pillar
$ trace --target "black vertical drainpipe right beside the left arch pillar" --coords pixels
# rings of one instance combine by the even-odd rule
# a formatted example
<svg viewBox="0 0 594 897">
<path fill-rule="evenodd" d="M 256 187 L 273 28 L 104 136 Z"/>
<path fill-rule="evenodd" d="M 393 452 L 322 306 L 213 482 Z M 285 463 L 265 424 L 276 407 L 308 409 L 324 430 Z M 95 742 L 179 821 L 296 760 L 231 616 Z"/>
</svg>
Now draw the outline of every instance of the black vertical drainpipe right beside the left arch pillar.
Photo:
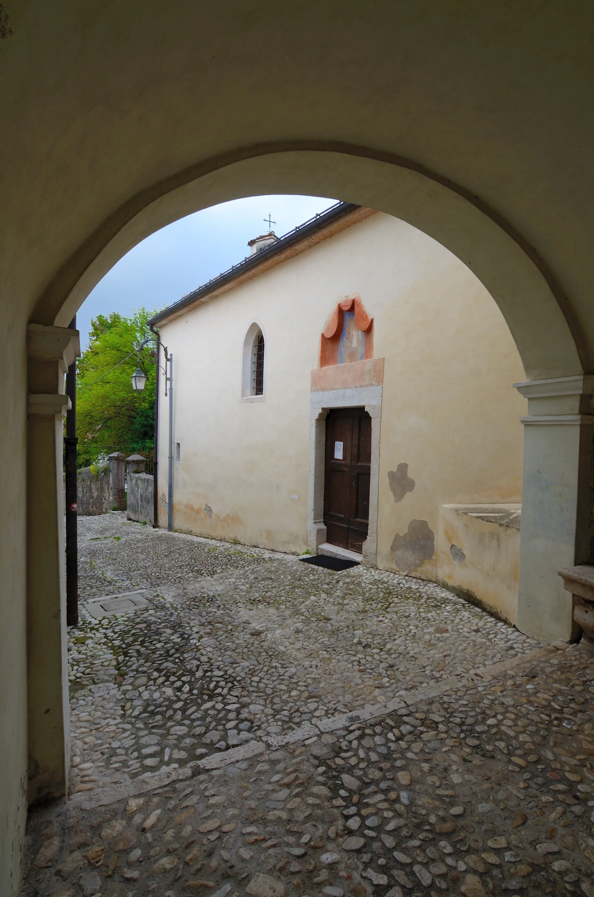
<svg viewBox="0 0 594 897">
<path fill-rule="evenodd" d="M 70 322 L 76 329 L 76 315 Z M 65 492 L 66 492 L 66 626 L 78 623 L 78 536 L 76 495 L 76 359 L 66 373 L 66 396 L 71 408 L 66 414 Z"/>
</svg>

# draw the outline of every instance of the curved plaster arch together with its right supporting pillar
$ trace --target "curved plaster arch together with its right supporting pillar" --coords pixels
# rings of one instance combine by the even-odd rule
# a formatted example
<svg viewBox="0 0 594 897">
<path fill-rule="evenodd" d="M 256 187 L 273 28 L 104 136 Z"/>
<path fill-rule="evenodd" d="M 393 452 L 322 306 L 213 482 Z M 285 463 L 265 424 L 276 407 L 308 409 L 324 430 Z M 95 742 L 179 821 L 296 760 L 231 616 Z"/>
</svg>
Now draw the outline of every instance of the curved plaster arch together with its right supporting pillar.
<svg viewBox="0 0 594 897">
<path fill-rule="evenodd" d="M 582 377 L 585 353 L 545 263 L 463 188 L 362 147 L 284 144 L 238 150 L 184 170 L 121 205 L 48 284 L 34 320 L 64 327 L 109 267 L 167 223 L 208 205 L 271 192 L 341 196 L 393 214 L 449 248 L 491 293 L 518 346 L 527 380 L 534 384 L 522 387 L 534 405 L 524 422 L 538 424 L 526 431 L 519 626 L 541 638 L 569 639 L 571 597 L 556 571 L 576 562 L 576 555 L 586 560 L 589 496 L 581 481 L 591 421 L 588 415 L 571 414 L 576 401 L 586 401 L 580 396 L 590 392 L 590 381 Z M 575 463 L 568 466 L 570 457 Z M 565 489 L 561 514 L 550 507 L 560 482 Z"/>
</svg>

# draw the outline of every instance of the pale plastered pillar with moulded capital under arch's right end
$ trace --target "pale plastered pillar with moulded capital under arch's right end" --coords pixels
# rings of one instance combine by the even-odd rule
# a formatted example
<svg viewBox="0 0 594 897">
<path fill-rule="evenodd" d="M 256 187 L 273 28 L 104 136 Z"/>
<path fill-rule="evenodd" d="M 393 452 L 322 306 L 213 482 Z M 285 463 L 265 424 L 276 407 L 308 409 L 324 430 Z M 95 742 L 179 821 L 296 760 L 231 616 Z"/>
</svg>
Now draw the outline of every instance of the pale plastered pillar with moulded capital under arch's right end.
<svg viewBox="0 0 594 897">
<path fill-rule="evenodd" d="M 528 398 L 517 625 L 537 639 L 569 641 L 578 630 L 557 571 L 590 556 L 594 377 L 514 385 Z"/>
</svg>

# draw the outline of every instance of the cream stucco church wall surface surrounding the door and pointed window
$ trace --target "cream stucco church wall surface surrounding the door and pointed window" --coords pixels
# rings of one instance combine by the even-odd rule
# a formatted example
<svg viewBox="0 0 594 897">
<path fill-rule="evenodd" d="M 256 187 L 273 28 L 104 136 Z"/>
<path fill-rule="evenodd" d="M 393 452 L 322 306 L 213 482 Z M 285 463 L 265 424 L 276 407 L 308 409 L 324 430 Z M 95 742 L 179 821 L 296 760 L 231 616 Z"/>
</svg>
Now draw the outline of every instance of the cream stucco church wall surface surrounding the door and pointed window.
<svg viewBox="0 0 594 897">
<path fill-rule="evenodd" d="M 397 569 L 395 534 L 424 520 L 435 538 L 433 559 L 400 569 L 435 579 L 440 504 L 520 501 L 525 400 L 511 384 L 523 370 L 501 312 L 474 274 L 383 213 L 162 326 L 174 355 L 174 437 L 181 442 L 173 527 L 305 550 L 310 372 L 336 302 L 354 294 L 375 319 L 374 356 L 385 358 L 378 565 Z M 242 346 L 253 322 L 266 340 L 265 397 L 241 401 Z M 164 501 L 163 395 L 161 402 Z M 389 472 L 400 463 L 415 489 L 395 502 Z"/>
</svg>

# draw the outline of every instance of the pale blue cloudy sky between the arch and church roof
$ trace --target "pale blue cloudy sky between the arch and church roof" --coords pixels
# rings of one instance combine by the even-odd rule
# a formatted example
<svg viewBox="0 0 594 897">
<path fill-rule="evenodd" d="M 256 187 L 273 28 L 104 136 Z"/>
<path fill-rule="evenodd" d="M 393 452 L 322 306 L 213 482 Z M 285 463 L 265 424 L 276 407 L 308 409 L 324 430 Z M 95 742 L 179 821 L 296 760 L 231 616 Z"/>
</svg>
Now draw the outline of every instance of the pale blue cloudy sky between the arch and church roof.
<svg viewBox="0 0 594 897">
<path fill-rule="evenodd" d="M 248 240 L 267 233 L 268 213 L 277 236 L 293 230 L 335 199 L 320 196 L 249 196 L 188 215 L 130 249 L 89 294 L 76 316 L 81 348 L 91 318 L 144 305 L 159 309 L 196 290 L 249 255 Z"/>
</svg>

